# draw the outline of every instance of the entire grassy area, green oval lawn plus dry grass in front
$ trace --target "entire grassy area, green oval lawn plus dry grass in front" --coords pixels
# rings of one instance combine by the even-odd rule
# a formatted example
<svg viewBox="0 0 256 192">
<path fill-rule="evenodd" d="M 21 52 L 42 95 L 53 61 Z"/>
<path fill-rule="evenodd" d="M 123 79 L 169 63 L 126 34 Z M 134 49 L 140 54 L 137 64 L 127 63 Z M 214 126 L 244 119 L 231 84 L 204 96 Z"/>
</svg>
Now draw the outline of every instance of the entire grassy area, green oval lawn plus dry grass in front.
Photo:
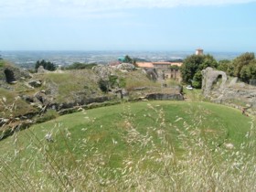
<svg viewBox="0 0 256 192">
<path fill-rule="evenodd" d="M 54 142 L 47 142 L 51 134 Z M 2 141 L 17 191 L 255 190 L 252 117 L 199 101 L 123 103 L 61 116 Z"/>
</svg>

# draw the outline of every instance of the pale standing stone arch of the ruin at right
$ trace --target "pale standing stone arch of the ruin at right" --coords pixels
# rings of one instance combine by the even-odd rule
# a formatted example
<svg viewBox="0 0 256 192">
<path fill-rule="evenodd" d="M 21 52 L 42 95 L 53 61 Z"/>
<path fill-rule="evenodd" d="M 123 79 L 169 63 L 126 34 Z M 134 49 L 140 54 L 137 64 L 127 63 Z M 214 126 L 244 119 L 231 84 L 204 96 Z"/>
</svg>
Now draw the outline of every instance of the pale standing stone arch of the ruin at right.
<svg viewBox="0 0 256 192">
<path fill-rule="evenodd" d="M 218 80 L 221 80 L 221 83 L 218 86 L 219 91 L 223 91 L 225 89 L 225 84 L 228 80 L 225 72 L 207 68 L 202 70 L 202 76 L 202 91 L 204 95 L 207 96 L 210 93 L 210 91 L 213 89 L 214 83 L 216 83 Z"/>
</svg>

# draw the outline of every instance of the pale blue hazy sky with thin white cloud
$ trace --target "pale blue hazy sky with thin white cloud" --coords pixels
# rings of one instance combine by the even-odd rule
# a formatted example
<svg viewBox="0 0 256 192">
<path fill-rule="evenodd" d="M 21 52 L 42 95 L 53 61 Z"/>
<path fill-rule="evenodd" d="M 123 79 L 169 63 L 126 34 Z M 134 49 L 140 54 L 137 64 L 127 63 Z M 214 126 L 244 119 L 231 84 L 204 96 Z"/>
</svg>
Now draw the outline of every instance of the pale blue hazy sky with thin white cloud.
<svg viewBox="0 0 256 192">
<path fill-rule="evenodd" d="M 0 50 L 256 52 L 256 0 L 0 0 Z"/>
</svg>

